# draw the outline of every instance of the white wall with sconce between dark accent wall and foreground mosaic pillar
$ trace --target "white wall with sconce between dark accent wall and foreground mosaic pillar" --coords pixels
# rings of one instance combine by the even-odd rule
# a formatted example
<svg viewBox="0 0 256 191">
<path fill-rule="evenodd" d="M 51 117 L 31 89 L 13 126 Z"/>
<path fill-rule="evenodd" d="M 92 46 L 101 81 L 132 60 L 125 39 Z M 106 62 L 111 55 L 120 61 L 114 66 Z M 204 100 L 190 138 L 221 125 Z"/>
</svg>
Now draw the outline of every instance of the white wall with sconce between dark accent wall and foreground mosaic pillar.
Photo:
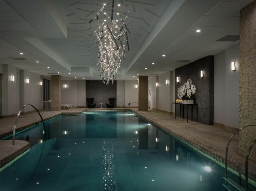
<svg viewBox="0 0 256 191">
<path fill-rule="evenodd" d="M 239 44 L 214 56 L 214 122 L 239 128 Z"/>
</svg>

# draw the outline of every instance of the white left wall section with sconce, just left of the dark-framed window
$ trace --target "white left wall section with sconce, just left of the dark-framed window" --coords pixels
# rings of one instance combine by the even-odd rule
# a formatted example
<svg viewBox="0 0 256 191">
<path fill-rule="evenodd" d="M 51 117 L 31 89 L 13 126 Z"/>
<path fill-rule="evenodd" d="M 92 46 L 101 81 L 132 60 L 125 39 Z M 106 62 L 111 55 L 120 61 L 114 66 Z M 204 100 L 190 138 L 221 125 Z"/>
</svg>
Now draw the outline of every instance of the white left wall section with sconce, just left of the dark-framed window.
<svg viewBox="0 0 256 191">
<path fill-rule="evenodd" d="M 29 83 L 27 83 L 29 79 Z M 43 109 L 41 103 L 42 87 L 41 76 L 26 70 L 20 70 L 20 107 L 31 104 L 37 109 Z M 34 108 L 27 106 L 23 112 L 33 111 Z"/>
</svg>

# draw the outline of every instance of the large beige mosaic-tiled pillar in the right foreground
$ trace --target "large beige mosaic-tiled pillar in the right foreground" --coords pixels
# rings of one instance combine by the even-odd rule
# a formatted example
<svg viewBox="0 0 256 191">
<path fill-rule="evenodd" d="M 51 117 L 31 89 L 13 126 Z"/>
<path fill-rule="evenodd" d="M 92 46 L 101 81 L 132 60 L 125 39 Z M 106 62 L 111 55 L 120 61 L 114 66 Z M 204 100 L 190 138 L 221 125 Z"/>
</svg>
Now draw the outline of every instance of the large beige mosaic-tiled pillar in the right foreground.
<svg viewBox="0 0 256 191">
<path fill-rule="evenodd" d="M 256 1 L 240 11 L 239 126 L 256 124 Z M 231 65 L 230 65 L 231 66 Z M 239 132 L 239 153 L 245 157 L 256 138 L 256 127 Z M 256 145 L 250 154 L 256 162 Z"/>
</svg>

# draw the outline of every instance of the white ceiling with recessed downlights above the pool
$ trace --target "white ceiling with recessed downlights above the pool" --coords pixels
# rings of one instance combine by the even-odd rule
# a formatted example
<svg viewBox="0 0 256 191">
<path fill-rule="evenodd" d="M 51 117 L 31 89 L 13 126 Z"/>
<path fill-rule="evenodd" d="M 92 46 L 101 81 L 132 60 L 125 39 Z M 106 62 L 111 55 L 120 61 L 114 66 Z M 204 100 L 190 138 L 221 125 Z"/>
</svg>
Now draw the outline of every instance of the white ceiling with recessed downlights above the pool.
<svg viewBox="0 0 256 191">
<path fill-rule="evenodd" d="M 115 20 L 131 11 L 130 51 L 117 79 L 162 74 L 238 44 L 239 40 L 216 40 L 239 35 L 239 11 L 252 1 L 116 0 Z M 99 80 L 96 22 L 89 20 L 103 3 L 107 3 L 103 12 L 110 15 L 111 0 L 0 0 L 0 63 L 44 76 L 60 72 L 63 79 Z M 99 18 L 104 20 L 104 15 Z"/>
</svg>

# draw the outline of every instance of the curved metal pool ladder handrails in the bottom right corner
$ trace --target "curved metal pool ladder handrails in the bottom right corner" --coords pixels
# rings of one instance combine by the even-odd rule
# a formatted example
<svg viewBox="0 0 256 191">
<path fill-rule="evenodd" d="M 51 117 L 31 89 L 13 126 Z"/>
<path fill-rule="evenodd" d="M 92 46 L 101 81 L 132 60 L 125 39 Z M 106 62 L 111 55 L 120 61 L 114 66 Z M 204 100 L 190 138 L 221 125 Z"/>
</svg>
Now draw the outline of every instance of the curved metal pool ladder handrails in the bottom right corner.
<svg viewBox="0 0 256 191">
<path fill-rule="evenodd" d="M 254 140 L 254 142 L 251 144 L 251 146 L 249 147 L 247 154 L 246 154 L 246 159 L 245 159 L 245 189 L 242 188 L 240 185 L 236 184 L 233 180 L 228 178 L 228 147 L 229 144 L 231 142 L 231 140 L 233 139 L 233 137 L 240 132 L 242 129 L 246 128 L 246 127 L 252 127 L 252 126 L 256 126 L 256 125 L 246 125 L 244 127 L 239 128 L 236 132 L 234 132 L 234 134 L 229 138 L 227 146 L 226 146 L 226 154 L 225 154 L 225 177 L 223 177 L 225 179 L 225 185 L 223 184 L 223 186 L 225 188 L 227 185 L 227 181 L 232 184 L 234 187 L 236 187 L 238 190 L 240 191 L 248 191 L 248 158 L 250 155 L 250 152 L 252 150 L 252 147 L 254 146 L 254 144 L 256 143 L 256 139 Z M 228 189 L 228 188 L 227 188 Z M 230 190 L 230 189 L 228 189 Z"/>
</svg>

